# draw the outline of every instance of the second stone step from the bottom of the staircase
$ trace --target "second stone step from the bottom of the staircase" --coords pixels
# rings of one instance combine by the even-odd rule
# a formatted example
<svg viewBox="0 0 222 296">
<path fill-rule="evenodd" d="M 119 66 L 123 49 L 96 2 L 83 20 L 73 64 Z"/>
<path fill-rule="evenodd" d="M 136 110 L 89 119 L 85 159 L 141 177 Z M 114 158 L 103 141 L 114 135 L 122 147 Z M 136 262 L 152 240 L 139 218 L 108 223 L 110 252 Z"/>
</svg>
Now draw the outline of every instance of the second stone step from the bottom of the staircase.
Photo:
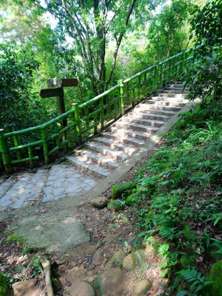
<svg viewBox="0 0 222 296">
<path fill-rule="evenodd" d="M 112 158 L 109 158 L 105 155 L 102 155 L 100 153 L 97 153 L 91 150 L 79 149 L 75 151 L 75 154 L 84 157 L 86 160 L 90 160 L 99 165 L 106 166 L 111 170 L 119 166 L 118 161 L 114 161 Z"/>
</svg>

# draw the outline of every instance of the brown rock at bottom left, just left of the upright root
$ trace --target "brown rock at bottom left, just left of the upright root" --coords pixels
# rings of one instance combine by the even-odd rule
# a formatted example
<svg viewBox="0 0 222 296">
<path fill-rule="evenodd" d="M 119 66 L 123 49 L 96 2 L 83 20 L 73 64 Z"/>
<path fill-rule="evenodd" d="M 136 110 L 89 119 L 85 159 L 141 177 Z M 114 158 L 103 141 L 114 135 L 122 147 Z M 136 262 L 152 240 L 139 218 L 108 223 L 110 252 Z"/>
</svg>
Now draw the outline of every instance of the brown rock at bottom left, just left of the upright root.
<svg viewBox="0 0 222 296">
<path fill-rule="evenodd" d="M 12 285 L 14 296 L 33 296 L 35 295 L 35 284 L 37 279 L 23 282 L 16 282 Z"/>
</svg>

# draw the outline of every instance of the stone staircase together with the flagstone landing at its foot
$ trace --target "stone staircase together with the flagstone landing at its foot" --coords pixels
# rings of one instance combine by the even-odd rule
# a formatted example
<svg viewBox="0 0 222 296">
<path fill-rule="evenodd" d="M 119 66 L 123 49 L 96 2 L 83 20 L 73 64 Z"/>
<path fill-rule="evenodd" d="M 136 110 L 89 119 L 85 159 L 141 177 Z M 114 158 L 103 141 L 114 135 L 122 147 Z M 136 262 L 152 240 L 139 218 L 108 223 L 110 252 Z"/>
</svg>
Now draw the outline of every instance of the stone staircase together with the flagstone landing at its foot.
<svg viewBox="0 0 222 296">
<path fill-rule="evenodd" d="M 106 178 L 172 115 L 187 103 L 182 83 L 175 82 L 143 101 L 116 121 L 108 131 L 85 143 L 66 161 L 37 173 L 24 173 L 0 180 L 0 211 L 36 202 L 83 195 Z"/>
</svg>

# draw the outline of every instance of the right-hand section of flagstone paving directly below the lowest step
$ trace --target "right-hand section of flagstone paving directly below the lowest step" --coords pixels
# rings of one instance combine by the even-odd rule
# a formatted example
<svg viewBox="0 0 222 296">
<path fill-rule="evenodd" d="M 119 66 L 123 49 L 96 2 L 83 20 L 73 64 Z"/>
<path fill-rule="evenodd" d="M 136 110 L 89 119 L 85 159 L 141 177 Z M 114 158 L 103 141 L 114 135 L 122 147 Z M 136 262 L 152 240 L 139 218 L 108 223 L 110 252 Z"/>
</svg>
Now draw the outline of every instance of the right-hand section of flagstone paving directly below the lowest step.
<svg viewBox="0 0 222 296">
<path fill-rule="evenodd" d="M 49 172 L 42 202 L 82 195 L 95 184 L 95 180 L 80 173 L 74 166 L 66 163 L 54 165 Z"/>
</svg>

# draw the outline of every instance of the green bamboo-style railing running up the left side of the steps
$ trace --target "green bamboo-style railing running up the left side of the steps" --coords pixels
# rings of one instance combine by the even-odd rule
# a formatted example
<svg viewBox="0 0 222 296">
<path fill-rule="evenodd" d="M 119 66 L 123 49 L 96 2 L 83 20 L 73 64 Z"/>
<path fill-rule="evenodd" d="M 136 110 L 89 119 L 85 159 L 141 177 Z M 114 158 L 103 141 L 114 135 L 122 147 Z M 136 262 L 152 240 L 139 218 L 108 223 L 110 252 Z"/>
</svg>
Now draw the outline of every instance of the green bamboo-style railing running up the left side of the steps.
<svg viewBox="0 0 222 296">
<path fill-rule="evenodd" d="M 33 168 L 34 161 L 39 159 L 39 155 L 35 155 L 37 147 L 42 149 L 44 162 L 48 164 L 50 156 L 57 150 L 81 145 L 89 133 L 96 135 L 98 129 L 103 130 L 108 122 L 123 116 L 126 108 L 135 106 L 145 95 L 155 93 L 158 87 L 166 85 L 172 79 L 177 80 L 188 63 L 194 63 L 194 52 L 199 47 L 201 45 L 182 50 L 160 63 L 155 62 L 153 66 L 140 73 L 125 80 L 118 80 L 115 86 L 104 93 L 83 104 L 72 104 L 71 110 L 44 124 L 10 133 L 0 129 L 0 153 L 6 173 L 11 174 L 13 165 L 26 161 L 29 161 Z M 48 135 L 48 128 L 52 128 L 53 124 L 64 118 L 69 119 L 68 126 L 53 135 Z M 28 144 L 20 143 L 22 135 L 37 132 L 40 133 L 41 140 Z M 55 143 L 54 148 L 50 150 L 49 141 Z"/>
</svg>

